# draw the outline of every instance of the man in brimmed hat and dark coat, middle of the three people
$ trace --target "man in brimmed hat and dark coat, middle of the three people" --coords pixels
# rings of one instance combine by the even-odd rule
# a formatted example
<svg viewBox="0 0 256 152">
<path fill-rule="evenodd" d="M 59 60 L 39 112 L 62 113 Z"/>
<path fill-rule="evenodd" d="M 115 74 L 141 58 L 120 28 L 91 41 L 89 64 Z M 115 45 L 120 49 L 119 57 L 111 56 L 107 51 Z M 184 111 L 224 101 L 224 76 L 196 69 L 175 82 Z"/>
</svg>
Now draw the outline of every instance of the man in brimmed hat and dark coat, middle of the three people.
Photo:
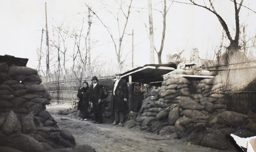
<svg viewBox="0 0 256 152">
<path fill-rule="evenodd" d="M 99 80 L 96 76 L 93 76 L 91 81 L 92 81 L 92 84 L 90 86 L 89 100 L 93 103 L 93 113 L 95 116 L 94 123 L 103 123 L 103 116 L 102 116 L 103 88 L 101 84 L 98 84 Z"/>
</svg>

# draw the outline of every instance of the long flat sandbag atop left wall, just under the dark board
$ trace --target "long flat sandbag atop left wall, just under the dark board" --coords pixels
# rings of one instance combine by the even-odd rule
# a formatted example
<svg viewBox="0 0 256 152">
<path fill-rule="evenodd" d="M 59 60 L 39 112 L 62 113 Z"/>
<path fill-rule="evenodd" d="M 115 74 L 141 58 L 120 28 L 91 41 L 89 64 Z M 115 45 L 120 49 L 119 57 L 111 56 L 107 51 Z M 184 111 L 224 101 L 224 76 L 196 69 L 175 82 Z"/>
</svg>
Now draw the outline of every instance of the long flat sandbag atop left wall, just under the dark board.
<svg viewBox="0 0 256 152">
<path fill-rule="evenodd" d="M 9 67 L 10 75 L 38 75 L 36 69 L 28 68 L 26 66 L 11 66 Z"/>
</svg>

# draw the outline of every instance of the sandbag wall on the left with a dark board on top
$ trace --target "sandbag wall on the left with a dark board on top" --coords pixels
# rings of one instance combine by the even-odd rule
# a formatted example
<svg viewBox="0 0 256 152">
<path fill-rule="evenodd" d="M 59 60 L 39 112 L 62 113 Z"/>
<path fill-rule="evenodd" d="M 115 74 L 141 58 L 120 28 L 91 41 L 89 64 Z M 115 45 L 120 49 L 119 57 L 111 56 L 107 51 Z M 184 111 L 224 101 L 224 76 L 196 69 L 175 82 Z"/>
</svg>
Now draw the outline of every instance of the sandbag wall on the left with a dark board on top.
<svg viewBox="0 0 256 152">
<path fill-rule="evenodd" d="M 43 152 L 74 147 L 47 112 L 50 95 L 37 70 L 0 63 L 0 151 Z"/>
</svg>

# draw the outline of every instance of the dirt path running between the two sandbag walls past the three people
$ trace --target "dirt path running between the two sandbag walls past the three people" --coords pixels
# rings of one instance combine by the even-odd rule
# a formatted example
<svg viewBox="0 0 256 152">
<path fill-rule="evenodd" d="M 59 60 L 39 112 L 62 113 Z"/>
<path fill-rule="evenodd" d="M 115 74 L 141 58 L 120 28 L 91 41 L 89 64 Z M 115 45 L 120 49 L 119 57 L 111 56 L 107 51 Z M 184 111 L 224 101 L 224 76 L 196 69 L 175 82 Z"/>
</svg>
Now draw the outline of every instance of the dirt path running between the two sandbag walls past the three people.
<svg viewBox="0 0 256 152">
<path fill-rule="evenodd" d="M 90 120 L 82 121 L 69 115 L 57 115 L 58 110 L 71 106 L 52 104 L 47 111 L 58 123 L 60 129 L 69 130 L 76 139 L 76 145 L 92 146 L 96 152 L 224 152 L 182 140 L 166 138 L 149 132 L 95 124 Z"/>
</svg>

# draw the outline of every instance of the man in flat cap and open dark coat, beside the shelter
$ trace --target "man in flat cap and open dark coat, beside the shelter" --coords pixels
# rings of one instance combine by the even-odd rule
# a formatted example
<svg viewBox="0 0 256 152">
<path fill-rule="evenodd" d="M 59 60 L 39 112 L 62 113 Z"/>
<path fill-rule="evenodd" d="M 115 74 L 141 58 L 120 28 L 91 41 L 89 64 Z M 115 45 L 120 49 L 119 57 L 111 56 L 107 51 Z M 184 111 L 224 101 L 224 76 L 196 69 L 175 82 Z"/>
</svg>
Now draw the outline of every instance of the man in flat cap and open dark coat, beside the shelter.
<svg viewBox="0 0 256 152">
<path fill-rule="evenodd" d="M 111 108 L 115 112 L 115 121 L 112 125 L 122 126 L 124 123 L 125 111 L 127 109 L 128 86 L 125 80 L 121 79 L 121 74 L 116 74 L 116 80 L 113 87 L 113 100 Z"/>
</svg>

